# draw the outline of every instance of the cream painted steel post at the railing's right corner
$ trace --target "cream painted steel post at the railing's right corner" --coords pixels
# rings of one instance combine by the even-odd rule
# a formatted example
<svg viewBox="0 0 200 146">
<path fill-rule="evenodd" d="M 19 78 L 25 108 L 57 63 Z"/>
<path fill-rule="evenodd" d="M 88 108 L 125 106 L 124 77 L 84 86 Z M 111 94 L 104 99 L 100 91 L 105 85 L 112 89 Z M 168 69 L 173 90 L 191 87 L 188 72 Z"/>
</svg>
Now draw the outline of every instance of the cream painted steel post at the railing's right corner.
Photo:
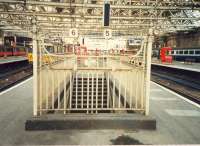
<svg viewBox="0 0 200 146">
<path fill-rule="evenodd" d="M 150 76 L 151 76 L 151 52 L 153 45 L 153 29 L 149 29 L 147 38 L 147 51 L 146 51 L 146 102 L 145 102 L 145 115 L 149 115 L 149 96 L 150 96 Z"/>
</svg>

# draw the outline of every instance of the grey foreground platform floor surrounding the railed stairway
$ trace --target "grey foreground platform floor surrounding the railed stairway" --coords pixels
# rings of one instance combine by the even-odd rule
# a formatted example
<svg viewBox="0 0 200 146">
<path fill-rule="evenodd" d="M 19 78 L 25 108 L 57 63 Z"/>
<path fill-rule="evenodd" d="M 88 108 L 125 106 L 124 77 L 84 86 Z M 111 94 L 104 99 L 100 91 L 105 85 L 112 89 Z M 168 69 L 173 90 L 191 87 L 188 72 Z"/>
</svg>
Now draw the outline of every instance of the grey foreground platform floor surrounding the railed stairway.
<svg viewBox="0 0 200 146">
<path fill-rule="evenodd" d="M 156 131 L 25 131 L 32 115 L 32 79 L 0 94 L 0 145 L 200 144 L 200 108 L 151 83 L 150 115 Z"/>
</svg>

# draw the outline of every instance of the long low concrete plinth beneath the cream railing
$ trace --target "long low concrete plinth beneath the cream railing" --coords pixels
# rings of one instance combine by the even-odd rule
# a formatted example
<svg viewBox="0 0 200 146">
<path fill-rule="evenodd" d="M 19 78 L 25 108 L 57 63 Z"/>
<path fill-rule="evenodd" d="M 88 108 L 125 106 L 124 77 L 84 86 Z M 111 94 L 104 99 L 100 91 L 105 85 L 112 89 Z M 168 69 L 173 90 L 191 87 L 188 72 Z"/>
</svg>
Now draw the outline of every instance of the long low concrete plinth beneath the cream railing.
<svg viewBox="0 0 200 146">
<path fill-rule="evenodd" d="M 95 111 L 94 111 L 95 112 Z M 156 130 L 156 120 L 141 114 L 53 114 L 30 118 L 25 130 Z"/>
</svg>

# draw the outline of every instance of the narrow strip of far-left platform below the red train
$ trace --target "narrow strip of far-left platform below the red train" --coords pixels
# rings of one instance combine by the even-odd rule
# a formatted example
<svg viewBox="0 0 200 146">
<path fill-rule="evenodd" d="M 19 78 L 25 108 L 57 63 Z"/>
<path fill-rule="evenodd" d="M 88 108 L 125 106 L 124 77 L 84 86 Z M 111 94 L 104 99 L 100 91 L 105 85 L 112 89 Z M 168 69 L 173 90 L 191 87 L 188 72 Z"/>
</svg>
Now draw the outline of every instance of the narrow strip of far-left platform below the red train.
<svg viewBox="0 0 200 146">
<path fill-rule="evenodd" d="M 0 57 L 0 65 L 5 63 L 17 62 L 27 60 L 27 57 L 24 56 L 12 56 L 12 57 Z"/>
</svg>

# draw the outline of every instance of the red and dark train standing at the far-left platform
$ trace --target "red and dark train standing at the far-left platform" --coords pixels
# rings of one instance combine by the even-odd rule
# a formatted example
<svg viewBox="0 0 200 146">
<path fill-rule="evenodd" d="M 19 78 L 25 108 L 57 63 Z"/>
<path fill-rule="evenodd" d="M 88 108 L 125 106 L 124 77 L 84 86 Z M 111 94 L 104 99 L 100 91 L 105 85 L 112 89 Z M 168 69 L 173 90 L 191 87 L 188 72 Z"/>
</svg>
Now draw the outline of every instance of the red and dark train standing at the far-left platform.
<svg viewBox="0 0 200 146">
<path fill-rule="evenodd" d="M 25 56 L 31 47 L 32 39 L 21 36 L 5 36 L 0 45 L 0 57 Z"/>
</svg>

